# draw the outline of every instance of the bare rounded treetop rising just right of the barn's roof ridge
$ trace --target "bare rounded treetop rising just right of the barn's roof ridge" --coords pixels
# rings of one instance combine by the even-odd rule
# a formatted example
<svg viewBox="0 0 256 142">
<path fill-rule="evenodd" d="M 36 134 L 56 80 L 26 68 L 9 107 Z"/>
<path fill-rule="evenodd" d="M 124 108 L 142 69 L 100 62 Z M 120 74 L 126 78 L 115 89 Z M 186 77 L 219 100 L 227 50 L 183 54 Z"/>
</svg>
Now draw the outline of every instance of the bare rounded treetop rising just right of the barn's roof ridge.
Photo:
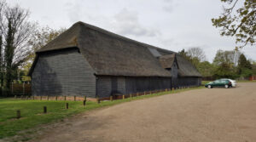
<svg viewBox="0 0 256 142">
<path fill-rule="evenodd" d="M 202 48 L 189 48 L 187 54 L 191 59 L 196 59 L 200 62 L 206 60 L 206 54 Z"/>
</svg>

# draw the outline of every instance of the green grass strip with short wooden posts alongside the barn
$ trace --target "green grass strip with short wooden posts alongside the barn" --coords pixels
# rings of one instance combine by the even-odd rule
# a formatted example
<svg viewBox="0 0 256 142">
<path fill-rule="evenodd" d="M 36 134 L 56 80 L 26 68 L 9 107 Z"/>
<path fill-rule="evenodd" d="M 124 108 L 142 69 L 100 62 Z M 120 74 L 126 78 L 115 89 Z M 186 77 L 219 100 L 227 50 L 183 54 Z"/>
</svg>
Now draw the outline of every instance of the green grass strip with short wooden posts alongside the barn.
<svg viewBox="0 0 256 142">
<path fill-rule="evenodd" d="M 203 87 L 199 87 L 203 88 Z M 177 89 L 173 92 L 163 92 L 158 94 L 148 94 L 127 99 L 117 99 L 113 101 L 102 101 L 100 104 L 87 101 L 84 107 L 82 101 L 63 100 L 25 100 L 25 99 L 0 99 L 0 139 L 14 136 L 22 130 L 35 128 L 40 124 L 55 122 L 67 116 L 73 116 L 83 111 L 116 105 L 119 103 L 136 99 L 146 99 L 163 94 L 175 94 L 196 88 Z M 69 104 L 69 109 L 65 109 L 65 104 Z M 47 114 L 43 114 L 43 107 L 47 106 Z M 16 111 L 20 110 L 21 118 L 16 119 Z"/>
</svg>

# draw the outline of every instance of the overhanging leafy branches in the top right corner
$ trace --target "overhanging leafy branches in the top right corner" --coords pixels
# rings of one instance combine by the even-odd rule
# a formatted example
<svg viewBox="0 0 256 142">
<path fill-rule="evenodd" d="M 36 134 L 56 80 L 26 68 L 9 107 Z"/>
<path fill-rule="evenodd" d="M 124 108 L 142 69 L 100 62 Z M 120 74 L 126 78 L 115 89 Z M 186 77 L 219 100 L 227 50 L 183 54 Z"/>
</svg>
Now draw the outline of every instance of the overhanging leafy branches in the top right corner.
<svg viewBox="0 0 256 142">
<path fill-rule="evenodd" d="M 241 8 L 237 8 L 238 0 L 221 0 L 230 8 L 224 7 L 224 12 L 216 19 L 212 19 L 212 26 L 221 28 L 220 35 L 236 37 L 236 47 L 243 48 L 247 44 L 255 45 L 256 35 L 256 1 L 242 0 Z"/>
</svg>

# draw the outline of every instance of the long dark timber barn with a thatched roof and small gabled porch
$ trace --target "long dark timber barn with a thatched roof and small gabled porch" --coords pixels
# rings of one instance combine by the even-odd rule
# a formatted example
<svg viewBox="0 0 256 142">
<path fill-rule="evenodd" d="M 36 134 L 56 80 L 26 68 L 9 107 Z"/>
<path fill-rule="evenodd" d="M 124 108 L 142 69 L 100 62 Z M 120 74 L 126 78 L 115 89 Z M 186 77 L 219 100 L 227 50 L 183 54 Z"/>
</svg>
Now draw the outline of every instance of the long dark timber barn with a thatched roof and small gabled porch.
<svg viewBox="0 0 256 142">
<path fill-rule="evenodd" d="M 181 55 L 77 22 L 36 52 L 32 95 L 111 95 L 201 85 Z"/>
</svg>

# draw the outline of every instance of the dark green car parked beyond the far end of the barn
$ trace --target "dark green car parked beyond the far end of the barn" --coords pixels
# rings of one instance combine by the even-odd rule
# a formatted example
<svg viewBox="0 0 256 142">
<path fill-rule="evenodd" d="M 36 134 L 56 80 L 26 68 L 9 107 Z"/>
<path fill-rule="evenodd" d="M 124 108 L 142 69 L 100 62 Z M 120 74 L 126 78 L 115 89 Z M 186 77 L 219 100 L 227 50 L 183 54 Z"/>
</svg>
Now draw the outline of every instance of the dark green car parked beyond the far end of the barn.
<svg viewBox="0 0 256 142">
<path fill-rule="evenodd" d="M 219 79 L 214 82 L 208 82 L 205 85 L 206 88 L 230 88 L 232 87 L 232 83 L 227 79 Z"/>
</svg>

